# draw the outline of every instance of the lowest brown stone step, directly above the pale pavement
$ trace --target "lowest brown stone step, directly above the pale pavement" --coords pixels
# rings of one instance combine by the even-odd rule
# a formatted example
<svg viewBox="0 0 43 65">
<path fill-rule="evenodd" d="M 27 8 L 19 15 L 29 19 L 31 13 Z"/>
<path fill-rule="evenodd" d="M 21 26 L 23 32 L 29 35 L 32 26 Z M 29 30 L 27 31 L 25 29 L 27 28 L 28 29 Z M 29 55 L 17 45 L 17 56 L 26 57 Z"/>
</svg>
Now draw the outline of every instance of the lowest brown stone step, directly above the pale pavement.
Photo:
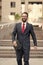
<svg viewBox="0 0 43 65">
<path fill-rule="evenodd" d="M 16 54 L 0 54 L 0 58 L 15 58 Z M 43 54 L 30 54 L 30 58 L 43 58 Z"/>
</svg>

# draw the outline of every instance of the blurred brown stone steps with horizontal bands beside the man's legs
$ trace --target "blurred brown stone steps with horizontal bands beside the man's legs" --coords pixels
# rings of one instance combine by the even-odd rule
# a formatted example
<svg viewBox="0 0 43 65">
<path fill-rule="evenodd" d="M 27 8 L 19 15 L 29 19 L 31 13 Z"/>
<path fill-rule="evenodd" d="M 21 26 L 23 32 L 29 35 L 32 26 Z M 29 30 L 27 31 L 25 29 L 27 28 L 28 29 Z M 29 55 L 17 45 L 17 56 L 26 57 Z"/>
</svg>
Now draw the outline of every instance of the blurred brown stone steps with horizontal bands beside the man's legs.
<svg viewBox="0 0 43 65">
<path fill-rule="evenodd" d="M 31 40 L 30 58 L 43 58 L 43 40 L 38 40 L 38 48 L 34 50 L 33 41 Z M 15 49 L 13 48 L 11 40 L 0 41 L 0 57 L 14 58 L 16 57 Z"/>
</svg>

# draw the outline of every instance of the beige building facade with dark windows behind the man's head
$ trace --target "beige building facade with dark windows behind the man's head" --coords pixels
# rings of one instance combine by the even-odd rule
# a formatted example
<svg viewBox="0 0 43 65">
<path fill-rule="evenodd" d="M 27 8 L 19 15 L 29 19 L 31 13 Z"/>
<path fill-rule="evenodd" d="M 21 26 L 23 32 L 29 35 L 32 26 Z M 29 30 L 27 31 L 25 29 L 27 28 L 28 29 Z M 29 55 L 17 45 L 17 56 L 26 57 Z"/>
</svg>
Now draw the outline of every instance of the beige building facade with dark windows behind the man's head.
<svg viewBox="0 0 43 65">
<path fill-rule="evenodd" d="M 43 24 L 43 0 L 0 0 L 0 22 L 14 22 L 14 15 L 28 12 L 28 21 Z"/>
</svg>

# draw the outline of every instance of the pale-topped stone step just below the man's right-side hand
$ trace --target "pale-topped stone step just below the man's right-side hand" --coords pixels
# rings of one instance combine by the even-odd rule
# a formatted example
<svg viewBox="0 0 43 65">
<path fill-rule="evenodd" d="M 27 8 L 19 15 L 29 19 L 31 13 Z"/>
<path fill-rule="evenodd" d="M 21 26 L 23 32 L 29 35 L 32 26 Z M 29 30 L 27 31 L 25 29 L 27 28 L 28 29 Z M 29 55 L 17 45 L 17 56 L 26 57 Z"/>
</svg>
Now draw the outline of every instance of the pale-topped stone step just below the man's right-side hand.
<svg viewBox="0 0 43 65">
<path fill-rule="evenodd" d="M 34 50 L 34 47 L 32 49 L 31 48 L 30 48 L 30 52 L 32 52 L 32 53 L 43 53 L 43 47 L 37 47 L 37 50 Z M 13 47 L 0 46 L 0 53 L 15 53 L 15 49 Z"/>
</svg>

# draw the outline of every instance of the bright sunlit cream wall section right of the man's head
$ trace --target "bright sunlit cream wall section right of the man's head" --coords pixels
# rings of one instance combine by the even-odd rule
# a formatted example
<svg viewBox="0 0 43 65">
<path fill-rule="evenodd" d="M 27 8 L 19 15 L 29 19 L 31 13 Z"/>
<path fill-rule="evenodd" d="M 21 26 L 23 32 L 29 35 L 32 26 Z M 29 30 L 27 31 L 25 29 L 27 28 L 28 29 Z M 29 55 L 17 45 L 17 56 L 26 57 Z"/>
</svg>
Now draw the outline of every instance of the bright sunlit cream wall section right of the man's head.
<svg viewBox="0 0 43 65">
<path fill-rule="evenodd" d="M 42 4 L 29 4 L 29 21 L 35 23 L 38 21 L 39 17 L 42 17 Z"/>
</svg>

